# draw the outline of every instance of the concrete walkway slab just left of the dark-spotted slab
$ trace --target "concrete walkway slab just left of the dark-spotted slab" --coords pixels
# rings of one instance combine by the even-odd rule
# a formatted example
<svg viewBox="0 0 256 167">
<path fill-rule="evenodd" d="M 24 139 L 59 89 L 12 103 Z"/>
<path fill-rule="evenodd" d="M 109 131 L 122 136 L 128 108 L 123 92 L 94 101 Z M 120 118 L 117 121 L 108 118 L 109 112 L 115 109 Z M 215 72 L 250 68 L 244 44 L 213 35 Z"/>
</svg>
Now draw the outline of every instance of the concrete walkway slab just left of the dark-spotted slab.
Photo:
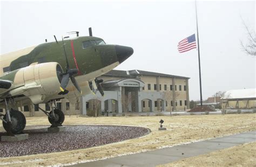
<svg viewBox="0 0 256 167">
<path fill-rule="evenodd" d="M 180 158 L 182 157 L 140 153 L 106 159 L 105 161 L 129 166 L 156 166 L 170 161 L 177 161 Z"/>
</svg>

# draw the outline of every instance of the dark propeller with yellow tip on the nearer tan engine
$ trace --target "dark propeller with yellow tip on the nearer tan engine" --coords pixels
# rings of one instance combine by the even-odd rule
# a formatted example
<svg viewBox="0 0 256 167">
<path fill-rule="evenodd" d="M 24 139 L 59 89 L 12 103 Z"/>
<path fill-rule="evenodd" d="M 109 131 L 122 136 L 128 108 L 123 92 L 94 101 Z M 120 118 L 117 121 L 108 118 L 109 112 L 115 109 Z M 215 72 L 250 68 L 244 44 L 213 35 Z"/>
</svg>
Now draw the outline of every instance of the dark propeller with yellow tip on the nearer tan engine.
<svg viewBox="0 0 256 167">
<path fill-rule="evenodd" d="M 80 89 L 78 82 L 76 81 L 75 77 L 73 76 L 78 73 L 78 69 L 76 69 L 76 68 L 70 69 L 69 68 L 69 62 L 68 62 L 68 57 L 66 56 L 66 49 L 65 49 L 63 37 L 62 37 L 62 44 L 63 44 L 64 55 L 66 57 L 66 72 L 62 73 L 62 81 L 60 82 L 59 88 L 62 92 L 66 92 L 67 90 L 65 90 L 65 89 L 66 89 L 66 86 L 68 86 L 69 78 L 70 78 L 71 82 L 76 87 L 78 92 L 82 94 L 82 90 Z"/>
</svg>

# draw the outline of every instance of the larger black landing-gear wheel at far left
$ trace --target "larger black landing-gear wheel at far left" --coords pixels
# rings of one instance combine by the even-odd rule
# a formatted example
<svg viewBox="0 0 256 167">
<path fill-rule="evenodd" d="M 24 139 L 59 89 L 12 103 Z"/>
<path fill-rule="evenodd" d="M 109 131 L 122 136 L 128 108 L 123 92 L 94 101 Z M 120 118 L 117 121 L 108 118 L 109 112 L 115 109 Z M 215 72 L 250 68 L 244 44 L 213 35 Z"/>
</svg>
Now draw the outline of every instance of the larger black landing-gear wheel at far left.
<svg viewBox="0 0 256 167">
<path fill-rule="evenodd" d="M 13 134 L 21 133 L 26 126 L 26 118 L 24 114 L 18 110 L 14 110 L 11 108 L 10 116 L 11 116 L 11 132 Z M 7 115 L 5 114 L 3 118 L 5 121 L 7 120 L 6 117 Z M 3 121 L 3 127 L 6 131 L 8 130 L 7 123 L 4 121 Z"/>
</svg>

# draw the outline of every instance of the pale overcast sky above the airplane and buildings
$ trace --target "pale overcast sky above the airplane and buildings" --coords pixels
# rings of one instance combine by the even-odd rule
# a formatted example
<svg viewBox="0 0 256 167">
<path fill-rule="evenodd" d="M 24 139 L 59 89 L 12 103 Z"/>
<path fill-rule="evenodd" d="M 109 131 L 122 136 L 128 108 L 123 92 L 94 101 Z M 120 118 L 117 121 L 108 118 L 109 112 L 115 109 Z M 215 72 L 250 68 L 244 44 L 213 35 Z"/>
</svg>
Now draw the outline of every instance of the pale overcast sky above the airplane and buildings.
<svg viewBox="0 0 256 167">
<path fill-rule="evenodd" d="M 255 31 L 255 1 L 198 1 L 203 99 L 217 91 L 256 88 L 256 58 L 241 50 Z M 0 53 L 53 41 L 69 31 L 131 46 L 118 70 L 147 70 L 190 77 L 190 99 L 200 99 L 197 50 L 178 53 L 196 33 L 194 1 L 1 1 Z"/>
</svg>

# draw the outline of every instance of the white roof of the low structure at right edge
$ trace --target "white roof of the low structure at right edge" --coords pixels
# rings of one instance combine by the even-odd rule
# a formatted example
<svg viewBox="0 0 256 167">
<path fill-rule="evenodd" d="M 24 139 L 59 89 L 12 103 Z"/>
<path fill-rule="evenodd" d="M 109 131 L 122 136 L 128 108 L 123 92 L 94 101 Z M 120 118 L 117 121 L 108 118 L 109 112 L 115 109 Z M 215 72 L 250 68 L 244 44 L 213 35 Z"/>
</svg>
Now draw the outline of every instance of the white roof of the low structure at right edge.
<svg viewBox="0 0 256 167">
<path fill-rule="evenodd" d="M 256 98 L 256 88 L 238 89 L 225 92 L 224 99 Z"/>
</svg>

